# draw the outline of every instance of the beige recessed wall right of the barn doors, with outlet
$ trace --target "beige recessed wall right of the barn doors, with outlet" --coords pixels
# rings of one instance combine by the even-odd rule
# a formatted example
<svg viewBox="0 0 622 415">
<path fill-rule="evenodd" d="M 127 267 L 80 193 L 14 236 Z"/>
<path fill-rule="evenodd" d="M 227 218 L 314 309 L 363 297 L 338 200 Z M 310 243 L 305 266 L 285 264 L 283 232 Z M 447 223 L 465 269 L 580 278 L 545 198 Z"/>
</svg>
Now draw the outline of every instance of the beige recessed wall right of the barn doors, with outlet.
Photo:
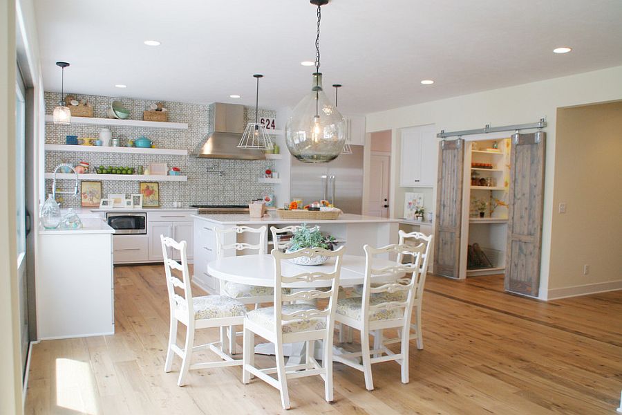
<svg viewBox="0 0 622 415">
<path fill-rule="evenodd" d="M 621 160 L 622 102 L 558 109 L 549 296 L 622 288 Z"/>
</svg>

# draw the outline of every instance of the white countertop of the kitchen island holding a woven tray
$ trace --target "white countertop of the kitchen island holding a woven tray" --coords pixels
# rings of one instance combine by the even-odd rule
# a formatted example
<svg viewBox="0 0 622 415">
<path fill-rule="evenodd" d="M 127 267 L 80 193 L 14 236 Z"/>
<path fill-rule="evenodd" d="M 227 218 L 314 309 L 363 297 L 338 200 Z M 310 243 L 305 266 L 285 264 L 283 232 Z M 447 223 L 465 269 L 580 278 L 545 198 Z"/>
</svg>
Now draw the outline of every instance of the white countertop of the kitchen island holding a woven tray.
<svg viewBox="0 0 622 415">
<path fill-rule="evenodd" d="M 264 216 L 261 219 L 252 218 L 247 214 L 193 214 L 192 217 L 221 225 L 258 225 L 260 223 L 399 223 L 400 219 L 363 216 L 360 214 L 344 213 L 338 219 L 279 219 L 274 216 Z"/>
</svg>

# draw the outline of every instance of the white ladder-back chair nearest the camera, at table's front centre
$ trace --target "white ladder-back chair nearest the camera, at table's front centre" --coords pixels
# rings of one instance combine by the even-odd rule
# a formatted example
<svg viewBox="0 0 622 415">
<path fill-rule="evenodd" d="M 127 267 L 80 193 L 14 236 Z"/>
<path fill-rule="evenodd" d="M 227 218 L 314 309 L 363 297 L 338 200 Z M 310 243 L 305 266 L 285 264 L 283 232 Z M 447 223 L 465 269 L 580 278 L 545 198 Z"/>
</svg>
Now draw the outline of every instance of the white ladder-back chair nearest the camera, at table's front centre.
<svg viewBox="0 0 622 415">
<path fill-rule="evenodd" d="M 281 404 L 283 408 L 290 408 L 290 395 L 288 391 L 288 379 L 301 378 L 303 376 L 319 375 L 324 380 L 324 392 L 326 400 L 332 402 L 332 337 L 334 329 L 334 306 L 337 302 L 337 290 L 339 288 L 339 275 L 341 273 L 341 258 L 343 250 L 330 251 L 321 248 L 304 248 L 283 253 L 278 249 L 272 250 L 274 257 L 274 306 L 258 308 L 247 314 L 244 320 L 244 365 L 242 381 L 249 383 L 252 375 L 264 380 L 269 385 L 281 391 Z M 334 258 L 334 267 L 328 273 L 314 271 L 309 267 L 308 273 L 298 275 L 283 275 L 282 262 L 298 257 L 315 257 L 324 255 Z M 308 283 L 310 287 L 330 284 L 330 290 L 320 291 L 317 288 L 309 288 L 303 291 L 283 293 L 283 284 L 296 282 Z M 312 301 L 328 299 L 328 304 L 323 309 L 312 304 L 283 304 L 283 302 Z M 259 369 L 254 365 L 255 335 L 274 343 L 276 354 L 276 367 Z M 319 365 L 313 356 L 314 342 L 323 340 L 323 362 Z M 283 356 L 283 343 L 306 342 L 305 363 L 285 367 Z M 276 378 L 270 376 L 276 373 Z"/>
</svg>

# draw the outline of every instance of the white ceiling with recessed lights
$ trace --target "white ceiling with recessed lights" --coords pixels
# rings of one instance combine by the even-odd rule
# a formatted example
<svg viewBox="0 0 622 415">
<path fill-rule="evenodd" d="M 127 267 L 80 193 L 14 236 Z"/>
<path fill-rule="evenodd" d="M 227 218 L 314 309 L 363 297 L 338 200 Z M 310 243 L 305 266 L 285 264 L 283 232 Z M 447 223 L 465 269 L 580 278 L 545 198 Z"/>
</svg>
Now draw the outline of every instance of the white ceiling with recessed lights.
<svg viewBox="0 0 622 415">
<path fill-rule="evenodd" d="M 46 90 L 293 106 L 309 89 L 308 0 L 35 0 Z M 621 0 L 332 0 L 322 8 L 325 89 L 370 113 L 622 64 Z M 144 46 L 156 39 L 161 46 Z M 552 49 L 570 46 L 571 53 Z M 432 79 L 424 86 L 420 80 Z M 115 84 L 126 84 L 117 89 Z M 333 92 L 328 91 L 332 97 Z M 229 98 L 242 95 L 241 100 Z"/>
</svg>

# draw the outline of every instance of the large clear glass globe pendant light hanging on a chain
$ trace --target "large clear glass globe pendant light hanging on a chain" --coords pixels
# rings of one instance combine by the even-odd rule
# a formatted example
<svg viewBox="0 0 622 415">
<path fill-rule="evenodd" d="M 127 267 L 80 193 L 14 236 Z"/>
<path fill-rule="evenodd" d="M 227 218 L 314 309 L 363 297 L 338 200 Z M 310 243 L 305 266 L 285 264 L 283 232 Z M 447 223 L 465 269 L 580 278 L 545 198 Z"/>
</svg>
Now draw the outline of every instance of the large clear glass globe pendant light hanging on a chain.
<svg viewBox="0 0 622 415">
<path fill-rule="evenodd" d="M 315 73 L 311 91 L 294 107 L 285 125 L 285 144 L 298 160 L 305 163 L 328 163 L 339 156 L 346 142 L 346 122 L 322 88 L 319 72 L 319 35 L 321 6 L 328 0 L 310 0 L 317 6 Z"/>
</svg>

